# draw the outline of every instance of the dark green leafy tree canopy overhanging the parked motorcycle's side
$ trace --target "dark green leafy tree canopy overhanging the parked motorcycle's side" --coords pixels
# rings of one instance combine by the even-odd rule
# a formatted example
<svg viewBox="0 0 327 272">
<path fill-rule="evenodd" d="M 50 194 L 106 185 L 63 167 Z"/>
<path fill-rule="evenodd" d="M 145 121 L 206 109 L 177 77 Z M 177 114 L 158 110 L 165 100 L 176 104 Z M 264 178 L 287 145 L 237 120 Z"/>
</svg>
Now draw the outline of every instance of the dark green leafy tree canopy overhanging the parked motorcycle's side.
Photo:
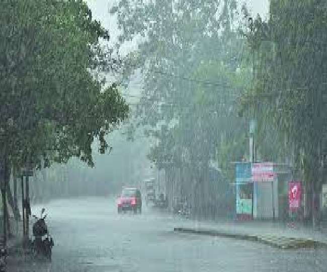
<svg viewBox="0 0 327 272">
<path fill-rule="evenodd" d="M 0 15 L 0 129 L 3 158 L 17 167 L 76 156 L 127 117 L 117 85 L 98 73 L 109 34 L 83 1 L 5 1 Z"/>
</svg>

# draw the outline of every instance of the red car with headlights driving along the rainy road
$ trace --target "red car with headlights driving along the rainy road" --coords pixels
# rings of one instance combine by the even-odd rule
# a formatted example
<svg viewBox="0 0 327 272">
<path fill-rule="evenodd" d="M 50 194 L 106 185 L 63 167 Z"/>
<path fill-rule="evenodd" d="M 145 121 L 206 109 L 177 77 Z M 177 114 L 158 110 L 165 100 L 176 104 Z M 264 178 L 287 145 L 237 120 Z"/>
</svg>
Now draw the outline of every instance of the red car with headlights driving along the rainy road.
<svg viewBox="0 0 327 272">
<path fill-rule="evenodd" d="M 118 214 L 133 211 L 135 214 L 142 212 L 142 196 L 137 188 L 123 188 L 117 202 Z"/>
</svg>

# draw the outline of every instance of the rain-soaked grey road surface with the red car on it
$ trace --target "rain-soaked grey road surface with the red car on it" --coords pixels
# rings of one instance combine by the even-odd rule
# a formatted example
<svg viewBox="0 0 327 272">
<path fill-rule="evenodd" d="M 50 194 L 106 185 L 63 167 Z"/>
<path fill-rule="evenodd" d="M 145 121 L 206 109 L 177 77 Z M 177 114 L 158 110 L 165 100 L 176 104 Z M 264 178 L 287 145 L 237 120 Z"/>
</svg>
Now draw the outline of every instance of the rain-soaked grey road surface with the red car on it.
<svg viewBox="0 0 327 272">
<path fill-rule="evenodd" d="M 182 219 L 143 208 L 118 215 L 112 199 L 56 200 L 44 205 L 55 239 L 51 264 L 10 271 L 325 271 L 323 249 L 280 250 L 255 242 L 174 233 Z M 40 207 L 32 213 L 39 214 Z M 181 222 L 182 220 L 182 222 Z"/>
</svg>

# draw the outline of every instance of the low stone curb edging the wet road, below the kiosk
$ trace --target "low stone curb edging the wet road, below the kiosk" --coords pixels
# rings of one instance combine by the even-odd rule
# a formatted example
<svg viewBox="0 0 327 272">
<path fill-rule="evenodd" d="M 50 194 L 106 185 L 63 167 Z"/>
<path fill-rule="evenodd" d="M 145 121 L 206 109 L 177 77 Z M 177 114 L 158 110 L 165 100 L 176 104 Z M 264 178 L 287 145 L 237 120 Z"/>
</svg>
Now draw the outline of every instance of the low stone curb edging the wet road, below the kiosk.
<svg viewBox="0 0 327 272">
<path fill-rule="evenodd" d="M 191 228 L 174 228 L 174 231 L 259 242 L 280 249 L 298 249 L 298 248 L 312 248 L 312 247 L 327 248 L 327 243 L 316 241 L 313 239 L 290 238 L 290 237 L 275 236 L 275 235 L 256 235 L 256 234 L 250 235 L 250 234 L 217 231 L 217 230 L 191 229 Z"/>
</svg>

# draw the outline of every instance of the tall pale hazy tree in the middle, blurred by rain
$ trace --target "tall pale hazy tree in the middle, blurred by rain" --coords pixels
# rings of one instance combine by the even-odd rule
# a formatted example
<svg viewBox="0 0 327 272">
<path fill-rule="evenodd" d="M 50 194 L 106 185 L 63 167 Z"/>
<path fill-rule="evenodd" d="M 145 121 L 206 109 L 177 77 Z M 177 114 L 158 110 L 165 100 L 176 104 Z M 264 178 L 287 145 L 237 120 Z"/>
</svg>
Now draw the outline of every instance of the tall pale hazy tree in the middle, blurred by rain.
<svg viewBox="0 0 327 272">
<path fill-rule="evenodd" d="M 172 176 L 182 172 L 185 188 L 198 186 L 199 194 L 208 191 L 210 161 L 227 168 L 227 160 L 242 157 L 246 149 L 237 150 L 246 130 L 236 102 L 249 84 L 250 70 L 242 62 L 246 41 L 237 33 L 237 11 L 235 1 L 210 0 L 120 1 L 112 10 L 122 42 L 144 37 L 128 56 L 125 72 L 128 76 L 138 67 L 143 72 L 137 114 L 158 139 L 149 158 Z M 230 176 L 231 169 L 225 170 Z"/>
</svg>

